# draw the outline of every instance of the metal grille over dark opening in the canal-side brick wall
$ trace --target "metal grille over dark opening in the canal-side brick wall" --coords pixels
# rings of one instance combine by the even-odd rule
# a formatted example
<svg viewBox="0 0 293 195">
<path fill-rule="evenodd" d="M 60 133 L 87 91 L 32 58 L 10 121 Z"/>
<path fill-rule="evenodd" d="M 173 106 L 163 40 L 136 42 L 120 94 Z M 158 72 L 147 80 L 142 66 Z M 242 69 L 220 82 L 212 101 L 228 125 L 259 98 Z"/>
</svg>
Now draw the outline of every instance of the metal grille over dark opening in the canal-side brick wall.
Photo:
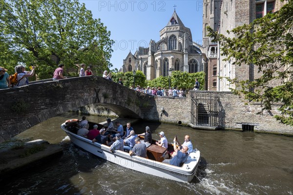
<svg viewBox="0 0 293 195">
<path fill-rule="evenodd" d="M 223 127 L 219 113 L 220 98 L 213 94 L 191 95 L 191 123 L 198 126 Z"/>
</svg>

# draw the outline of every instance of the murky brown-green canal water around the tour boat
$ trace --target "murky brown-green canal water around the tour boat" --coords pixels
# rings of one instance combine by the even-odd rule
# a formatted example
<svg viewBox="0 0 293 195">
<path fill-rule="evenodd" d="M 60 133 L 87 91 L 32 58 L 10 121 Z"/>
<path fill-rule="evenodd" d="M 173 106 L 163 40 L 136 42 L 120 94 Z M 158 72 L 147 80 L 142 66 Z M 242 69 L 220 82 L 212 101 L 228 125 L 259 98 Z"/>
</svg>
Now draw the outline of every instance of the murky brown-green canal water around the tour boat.
<svg viewBox="0 0 293 195">
<path fill-rule="evenodd" d="M 191 137 L 201 152 L 201 164 L 191 183 L 142 174 L 110 163 L 75 147 L 60 125 L 67 113 L 51 118 L 17 136 L 60 144 L 63 156 L 1 183 L 2 195 L 292 195 L 293 137 L 236 131 L 194 130 L 169 124 L 139 122 L 136 133 L 148 125 L 153 138 L 164 131 L 169 142 L 177 135 Z M 105 117 L 87 116 L 102 122 Z"/>
</svg>

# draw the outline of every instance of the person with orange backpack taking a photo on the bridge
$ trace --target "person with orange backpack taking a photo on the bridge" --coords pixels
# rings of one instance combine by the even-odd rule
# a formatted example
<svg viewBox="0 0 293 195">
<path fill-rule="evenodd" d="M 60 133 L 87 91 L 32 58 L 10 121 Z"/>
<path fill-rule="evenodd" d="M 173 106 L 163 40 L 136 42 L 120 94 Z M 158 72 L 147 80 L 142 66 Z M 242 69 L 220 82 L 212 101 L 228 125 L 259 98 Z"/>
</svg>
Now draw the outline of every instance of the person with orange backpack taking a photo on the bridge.
<svg viewBox="0 0 293 195">
<path fill-rule="evenodd" d="M 21 87 L 23 85 L 28 85 L 28 77 L 33 77 L 35 74 L 35 66 L 32 66 L 32 71 L 30 72 L 25 71 L 25 67 L 23 65 L 17 65 L 14 69 L 15 69 L 15 72 L 17 73 L 17 79 L 16 79 L 17 82 L 16 83 L 11 82 L 13 84 L 13 87 Z"/>
</svg>

